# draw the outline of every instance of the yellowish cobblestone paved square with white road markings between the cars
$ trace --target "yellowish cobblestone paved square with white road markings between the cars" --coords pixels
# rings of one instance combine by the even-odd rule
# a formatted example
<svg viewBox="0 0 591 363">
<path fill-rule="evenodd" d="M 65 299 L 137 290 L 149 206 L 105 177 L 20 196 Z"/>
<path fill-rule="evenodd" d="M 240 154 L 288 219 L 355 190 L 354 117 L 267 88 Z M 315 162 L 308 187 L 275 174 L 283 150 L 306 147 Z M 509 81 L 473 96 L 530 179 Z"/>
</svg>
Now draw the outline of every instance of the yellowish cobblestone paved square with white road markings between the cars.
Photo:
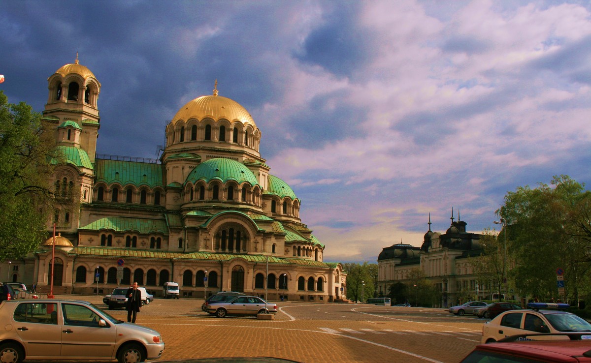
<svg viewBox="0 0 591 363">
<path fill-rule="evenodd" d="M 102 296 L 88 300 L 106 310 Z M 459 362 L 479 344 L 482 319 L 442 309 L 279 302 L 274 321 L 216 318 L 202 299 L 155 299 L 137 323 L 163 336 L 161 361 L 205 357 L 275 357 L 298 362 Z M 109 310 L 126 319 L 125 310 Z"/>
</svg>

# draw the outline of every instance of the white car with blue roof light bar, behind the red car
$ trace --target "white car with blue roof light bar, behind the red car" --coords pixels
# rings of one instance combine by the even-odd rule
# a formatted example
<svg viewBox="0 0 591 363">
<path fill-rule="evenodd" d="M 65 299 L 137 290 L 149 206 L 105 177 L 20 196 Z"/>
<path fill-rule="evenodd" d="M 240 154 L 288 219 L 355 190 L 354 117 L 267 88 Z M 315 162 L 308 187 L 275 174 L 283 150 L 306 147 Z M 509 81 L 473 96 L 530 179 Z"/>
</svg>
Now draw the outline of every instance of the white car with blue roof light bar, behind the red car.
<svg viewBox="0 0 591 363">
<path fill-rule="evenodd" d="M 573 313 L 565 303 L 528 303 L 529 309 L 509 310 L 482 325 L 482 343 L 491 343 L 512 335 L 540 333 L 531 338 L 543 340 L 544 334 L 590 332 L 591 324 Z M 530 338 L 528 338 L 530 339 Z"/>
</svg>

